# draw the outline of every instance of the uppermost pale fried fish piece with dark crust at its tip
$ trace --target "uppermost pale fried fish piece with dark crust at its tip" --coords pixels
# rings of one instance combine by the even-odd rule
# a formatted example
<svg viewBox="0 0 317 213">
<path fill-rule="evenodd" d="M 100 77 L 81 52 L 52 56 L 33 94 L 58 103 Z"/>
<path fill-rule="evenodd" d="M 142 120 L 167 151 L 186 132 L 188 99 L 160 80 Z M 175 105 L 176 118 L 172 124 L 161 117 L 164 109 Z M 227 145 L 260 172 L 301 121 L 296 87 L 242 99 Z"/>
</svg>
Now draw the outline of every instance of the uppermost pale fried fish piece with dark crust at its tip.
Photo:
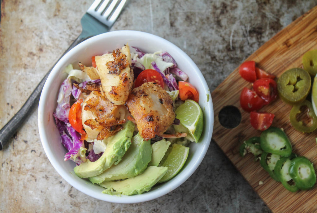
<svg viewBox="0 0 317 213">
<path fill-rule="evenodd" d="M 116 105 L 124 104 L 133 85 L 129 45 L 95 56 L 95 61 L 106 97 Z"/>
</svg>

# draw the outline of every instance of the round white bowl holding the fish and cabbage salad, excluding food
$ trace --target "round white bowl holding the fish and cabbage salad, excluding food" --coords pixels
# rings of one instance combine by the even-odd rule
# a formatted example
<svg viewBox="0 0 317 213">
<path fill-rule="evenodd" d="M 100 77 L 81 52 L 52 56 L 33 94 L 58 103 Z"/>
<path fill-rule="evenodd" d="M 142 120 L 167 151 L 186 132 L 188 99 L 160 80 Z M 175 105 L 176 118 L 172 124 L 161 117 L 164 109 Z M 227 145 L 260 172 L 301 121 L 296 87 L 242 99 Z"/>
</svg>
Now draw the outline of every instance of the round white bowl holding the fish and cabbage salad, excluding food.
<svg viewBox="0 0 317 213">
<path fill-rule="evenodd" d="M 178 175 L 165 183 L 154 186 L 152 190 L 143 194 L 118 197 L 101 193 L 103 191 L 102 187 L 93 185 L 88 180 L 81 179 L 75 175 L 73 170 L 75 163 L 73 161 L 64 161 L 64 155 L 67 150 L 61 144 L 53 112 L 57 106 L 56 100 L 61 82 L 67 77 L 67 74 L 62 72 L 65 66 L 69 64 L 75 65 L 78 62 L 84 65 L 91 65 L 92 56 L 112 52 L 127 42 L 131 47 L 131 51 L 134 51 L 132 47 L 139 47 L 146 53 L 166 51 L 175 59 L 178 67 L 189 76 L 189 82 L 199 91 L 199 105 L 204 114 L 204 131 L 198 143 L 192 142 L 190 144 L 187 162 Z M 77 190 L 91 197 L 113 203 L 139 203 L 152 200 L 171 192 L 184 183 L 197 169 L 207 152 L 213 130 L 213 118 L 213 107 L 208 85 L 190 57 L 180 48 L 163 38 L 149 33 L 127 30 L 94 36 L 66 53 L 55 65 L 45 82 L 38 110 L 38 125 L 42 146 L 55 170 Z"/>
</svg>

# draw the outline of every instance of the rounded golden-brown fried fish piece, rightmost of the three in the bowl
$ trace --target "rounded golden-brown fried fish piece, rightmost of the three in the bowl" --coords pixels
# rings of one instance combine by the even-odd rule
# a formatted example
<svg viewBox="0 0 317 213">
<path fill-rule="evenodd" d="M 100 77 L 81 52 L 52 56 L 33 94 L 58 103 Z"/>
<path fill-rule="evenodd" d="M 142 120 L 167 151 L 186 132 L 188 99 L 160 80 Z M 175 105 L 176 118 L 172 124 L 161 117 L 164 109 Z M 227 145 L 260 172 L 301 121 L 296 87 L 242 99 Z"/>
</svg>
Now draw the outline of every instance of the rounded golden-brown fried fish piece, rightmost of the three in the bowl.
<svg viewBox="0 0 317 213">
<path fill-rule="evenodd" d="M 145 140 L 163 135 L 175 119 L 171 97 L 154 82 L 134 88 L 126 101 L 126 107 Z"/>
</svg>

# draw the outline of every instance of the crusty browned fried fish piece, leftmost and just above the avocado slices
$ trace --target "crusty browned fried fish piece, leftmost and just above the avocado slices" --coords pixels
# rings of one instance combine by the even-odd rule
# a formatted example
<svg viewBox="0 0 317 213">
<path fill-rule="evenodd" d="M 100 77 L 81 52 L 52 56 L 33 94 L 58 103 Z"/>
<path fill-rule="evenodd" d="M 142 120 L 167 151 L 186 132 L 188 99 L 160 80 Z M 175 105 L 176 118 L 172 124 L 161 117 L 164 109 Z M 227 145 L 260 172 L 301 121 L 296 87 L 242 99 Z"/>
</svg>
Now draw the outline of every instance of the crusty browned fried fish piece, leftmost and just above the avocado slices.
<svg viewBox="0 0 317 213">
<path fill-rule="evenodd" d="M 82 125 L 89 139 L 102 140 L 122 129 L 124 105 L 114 105 L 100 91 L 92 91 L 83 103 Z"/>
</svg>

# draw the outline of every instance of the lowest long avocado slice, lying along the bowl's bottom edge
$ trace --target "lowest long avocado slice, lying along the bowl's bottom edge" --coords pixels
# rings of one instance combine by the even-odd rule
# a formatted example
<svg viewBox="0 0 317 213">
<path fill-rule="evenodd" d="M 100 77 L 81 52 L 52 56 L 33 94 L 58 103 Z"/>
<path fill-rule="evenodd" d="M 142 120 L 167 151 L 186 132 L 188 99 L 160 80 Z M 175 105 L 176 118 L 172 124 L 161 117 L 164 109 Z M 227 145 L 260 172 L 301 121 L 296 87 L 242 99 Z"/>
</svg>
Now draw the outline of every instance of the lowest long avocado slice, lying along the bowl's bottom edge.
<svg viewBox="0 0 317 213">
<path fill-rule="evenodd" d="M 105 194 L 135 195 L 149 191 L 166 173 L 165 166 L 148 166 L 146 170 L 133 178 L 122 181 L 104 181 L 99 185 L 106 188 Z M 114 190 L 116 192 L 114 192 Z"/>
</svg>

